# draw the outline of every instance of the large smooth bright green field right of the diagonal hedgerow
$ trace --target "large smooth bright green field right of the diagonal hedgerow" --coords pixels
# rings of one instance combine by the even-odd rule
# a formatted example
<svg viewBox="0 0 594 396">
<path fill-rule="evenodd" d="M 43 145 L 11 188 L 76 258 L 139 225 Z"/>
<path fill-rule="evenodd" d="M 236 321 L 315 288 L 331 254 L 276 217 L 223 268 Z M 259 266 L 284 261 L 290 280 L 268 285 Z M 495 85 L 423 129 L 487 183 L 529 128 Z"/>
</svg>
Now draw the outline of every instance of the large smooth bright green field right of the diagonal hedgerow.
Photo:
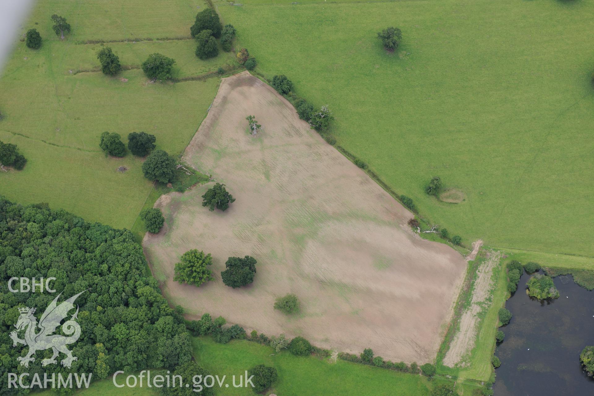
<svg viewBox="0 0 594 396">
<path fill-rule="evenodd" d="M 339 144 L 450 234 L 594 255 L 594 1 L 216 6 L 257 71 L 328 104 Z M 394 53 L 376 38 L 387 26 L 403 31 Z M 426 195 L 432 176 L 466 200 Z"/>
</svg>

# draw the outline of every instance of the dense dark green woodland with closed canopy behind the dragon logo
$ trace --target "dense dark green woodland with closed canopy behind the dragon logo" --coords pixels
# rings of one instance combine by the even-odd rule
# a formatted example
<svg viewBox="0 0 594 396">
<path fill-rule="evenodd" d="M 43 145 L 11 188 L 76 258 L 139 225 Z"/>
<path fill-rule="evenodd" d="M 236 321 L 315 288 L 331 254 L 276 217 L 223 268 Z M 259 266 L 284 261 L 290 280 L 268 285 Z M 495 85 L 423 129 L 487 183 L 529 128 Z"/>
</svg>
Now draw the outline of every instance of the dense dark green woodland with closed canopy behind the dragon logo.
<svg viewBox="0 0 594 396">
<path fill-rule="evenodd" d="M 183 318 L 169 308 L 146 269 L 143 250 L 128 230 L 89 223 L 45 204 L 22 206 L 0 197 L 0 387 L 5 394 L 26 392 L 7 389 L 7 372 L 28 372 L 30 378 L 43 372 L 92 372 L 99 379 L 116 370 L 175 368 L 189 362 L 190 335 Z M 50 287 L 56 293 L 11 293 L 11 277 L 55 277 Z M 12 347 L 9 337 L 18 308 L 37 308 L 39 320 L 58 293 L 61 302 L 86 289 L 75 302 L 82 334 L 70 346 L 78 357 L 71 369 L 59 364 L 42 368 L 51 350 L 37 351 L 29 368 L 17 366 L 17 357 L 28 349 Z"/>
</svg>

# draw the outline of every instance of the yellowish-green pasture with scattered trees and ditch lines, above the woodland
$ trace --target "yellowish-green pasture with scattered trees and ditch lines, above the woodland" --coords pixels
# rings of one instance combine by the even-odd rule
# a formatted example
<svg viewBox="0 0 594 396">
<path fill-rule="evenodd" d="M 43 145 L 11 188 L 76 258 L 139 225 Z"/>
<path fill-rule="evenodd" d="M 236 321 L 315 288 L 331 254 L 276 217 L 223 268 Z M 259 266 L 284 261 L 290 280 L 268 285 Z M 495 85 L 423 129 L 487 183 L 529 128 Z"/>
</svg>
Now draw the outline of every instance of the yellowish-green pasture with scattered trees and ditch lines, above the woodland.
<svg viewBox="0 0 594 396">
<path fill-rule="evenodd" d="M 0 174 L 2 194 L 131 228 L 153 185 L 143 177 L 141 159 L 129 153 L 123 159 L 106 157 L 99 135 L 118 132 L 127 144 L 129 132 L 145 131 L 156 135 L 157 148 L 174 156 L 182 153 L 206 116 L 219 78 L 148 83 L 140 64 L 150 53 L 163 53 L 177 61 L 174 78 L 233 65 L 232 53 L 207 61 L 194 55 L 189 26 L 204 7 L 202 1 L 39 1 L 21 33 L 37 28 L 42 47 L 32 50 L 16 42 L 0 77 L 0 112 L 5 115 L 0 140 L 17 144 L 28 159 L 23 171 Z M 63 41 L 51 29 L 53 13 L 72 26 Z M 116 77 L 97 71 L 102 45 L 83 44 L 165 37 L 185 39 L 106 43 L 125 65 Z M 127 172 L 116 172 L 119 166 Z"/>
</svg>

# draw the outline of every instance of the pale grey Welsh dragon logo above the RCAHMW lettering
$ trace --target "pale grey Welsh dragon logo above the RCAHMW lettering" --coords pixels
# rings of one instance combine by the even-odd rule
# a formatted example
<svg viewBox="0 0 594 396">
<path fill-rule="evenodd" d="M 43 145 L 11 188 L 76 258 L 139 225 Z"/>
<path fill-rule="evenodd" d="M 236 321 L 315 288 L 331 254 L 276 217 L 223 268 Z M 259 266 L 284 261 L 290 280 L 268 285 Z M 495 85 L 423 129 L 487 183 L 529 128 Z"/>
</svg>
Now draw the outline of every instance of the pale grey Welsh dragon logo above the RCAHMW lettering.
<svg viewBox="0 0 594 396">
<path fill-rule="evenodd" d="M 84 290 L 84 292 L 87 290 Z M 10 338 L 12 338 L 13 347 L 17 346 L 17 344 L 29 346 L 29 353 L 27 353 L 27 356 L 17 357 L 17 360 L 21 362 L 20 364 L 22 366 L 29 367 L 29 362 L 35 361 L 34 355 L 36 351 L 50 348 L 53 350 L 53 356 L 50 357 L 50 359 L 43 359 L 42 366 L 58 363 L 56 357 L 58 357 L 60 352 L 66 355 L 61 362 L 62 366 L 66 368 L 70 368 L 72 362 L 78 360 L 78 357 L 72 356 L 72 351 L 68 350 L 66 347 L 68 344 L 75 343 L 78 340 L 78 337 L 80 337 L 80 325 L 75 322 L 75 319 L 78 318 L 78 305 L 76 307 L 76 312 L 68 321 L 62 324 L 62 331 L 69 337 L 53 333 L 60 325 L 60 322 L 68 316 L 68 311 L 74 308 L 74 300 L 84 292 L 80 292 L 75 296 L 70 297 L 68 300 L 60 303 L 60 305 L 56 302 L 62 293 L 58 294 L 58 297 L 53 299 L 45 312 L 43 312 L 41 319 L 39 319 L 39 325 L 37 324 L 37 319 L 33 316 L 35 308 L 26 307 L 18 309 L 21 316 L 18 318 L 17 324 L 15 324 L 14 327 L 17 328 L 17 331 L 27 328 L 24 335 L 25 339 L 21 340 L 18 338 L 17 331 L 12 331 L 10 333 Z M 37 326 L 40 328 L 39 332 L 35 332 Z"/>
</svg>

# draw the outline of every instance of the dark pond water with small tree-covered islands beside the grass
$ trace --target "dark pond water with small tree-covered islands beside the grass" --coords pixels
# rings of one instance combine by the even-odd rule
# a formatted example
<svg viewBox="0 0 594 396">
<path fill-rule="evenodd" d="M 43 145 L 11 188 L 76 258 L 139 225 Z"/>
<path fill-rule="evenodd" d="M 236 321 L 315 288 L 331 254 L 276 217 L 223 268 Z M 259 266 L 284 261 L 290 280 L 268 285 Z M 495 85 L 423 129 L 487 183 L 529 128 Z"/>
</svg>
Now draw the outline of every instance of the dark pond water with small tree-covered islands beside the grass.
<svg viewBox="0 0 594 396">
<path fill-rule="evenodd" d="M 505 340 L 495 349 L 495 396 L 594 395 L 594 380 L 580 364 L 580 353 L 594 345 L 594 292 L 554 278 L 560 297 L 540 302 L 525 292 L 530 275 L 505 304 L 513 315 L 502 327 Z"/>
</svg>

